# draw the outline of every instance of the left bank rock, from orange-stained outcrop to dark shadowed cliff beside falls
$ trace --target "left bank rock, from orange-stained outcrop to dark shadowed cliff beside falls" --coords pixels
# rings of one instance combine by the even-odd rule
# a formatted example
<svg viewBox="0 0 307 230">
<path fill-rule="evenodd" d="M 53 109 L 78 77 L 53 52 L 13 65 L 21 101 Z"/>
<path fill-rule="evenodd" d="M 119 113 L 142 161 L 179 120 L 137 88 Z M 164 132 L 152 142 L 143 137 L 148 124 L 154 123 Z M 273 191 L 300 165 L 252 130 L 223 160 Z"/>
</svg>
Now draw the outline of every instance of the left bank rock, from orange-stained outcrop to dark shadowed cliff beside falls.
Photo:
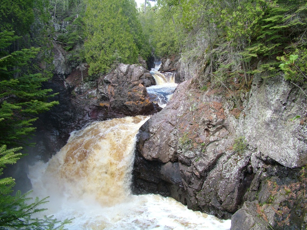
<svg viewBox="0 0 307 230">
<path fill-rule="evenodd" d="M 83 73 L 84 74 L 84 73 Z M 44 87 L 58 93 L 60 102 L 52 110 L 40 115 L 33 139 L 37 145 L 29 151 L 48 160 L 66 144 L 69 135 L 87 123 L 97 120 L 149 115 L 160 111 L 147 95 L 146 86 L 155 84 L 143 65 L 124 65 L 97 82 L 80 83 L 80 70 L 65 75 L 55 74 Z"/>
</svg>

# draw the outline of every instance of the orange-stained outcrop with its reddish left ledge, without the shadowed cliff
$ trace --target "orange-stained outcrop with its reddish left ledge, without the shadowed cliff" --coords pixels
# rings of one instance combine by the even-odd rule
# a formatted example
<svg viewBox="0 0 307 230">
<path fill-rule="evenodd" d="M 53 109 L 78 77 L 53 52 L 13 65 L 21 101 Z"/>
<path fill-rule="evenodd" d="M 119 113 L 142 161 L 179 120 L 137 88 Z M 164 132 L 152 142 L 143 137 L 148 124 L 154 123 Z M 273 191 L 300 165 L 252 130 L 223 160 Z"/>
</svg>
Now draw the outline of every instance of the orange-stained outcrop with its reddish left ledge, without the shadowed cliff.
<svg viewBox="0 0 307 230">
<path fill-rule="evenodd" d="M 67 79 L 66 83 L 71 84 Z M 126 115 L 149 115 L 160 111 L 147 94 L 146 87 L 152 84 L 154 78 L 142 65 L 119 64 L 97 83 L 74 86 L 72 105 L 82 117 L 82 124 Z"/>
</svg>

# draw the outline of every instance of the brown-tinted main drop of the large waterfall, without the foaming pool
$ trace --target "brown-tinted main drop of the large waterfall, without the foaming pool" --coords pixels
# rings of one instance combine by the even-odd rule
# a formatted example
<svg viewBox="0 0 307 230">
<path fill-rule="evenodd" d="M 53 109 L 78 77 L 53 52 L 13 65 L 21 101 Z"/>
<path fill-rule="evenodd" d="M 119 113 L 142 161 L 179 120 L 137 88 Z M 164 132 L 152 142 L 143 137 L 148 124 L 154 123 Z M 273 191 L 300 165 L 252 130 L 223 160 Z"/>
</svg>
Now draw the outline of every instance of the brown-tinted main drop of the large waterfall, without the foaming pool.
<svg viewBox="0 0 307 230">
<path fill-rule="evenodd" d="M 73 132 L 49 160 L 41 178 L 44 190 L 59 198 L 91 198 L 105 206 L 122 202 L 130 191 L 134 138 L 148 118 L 94 122 Z"/>
</svg>

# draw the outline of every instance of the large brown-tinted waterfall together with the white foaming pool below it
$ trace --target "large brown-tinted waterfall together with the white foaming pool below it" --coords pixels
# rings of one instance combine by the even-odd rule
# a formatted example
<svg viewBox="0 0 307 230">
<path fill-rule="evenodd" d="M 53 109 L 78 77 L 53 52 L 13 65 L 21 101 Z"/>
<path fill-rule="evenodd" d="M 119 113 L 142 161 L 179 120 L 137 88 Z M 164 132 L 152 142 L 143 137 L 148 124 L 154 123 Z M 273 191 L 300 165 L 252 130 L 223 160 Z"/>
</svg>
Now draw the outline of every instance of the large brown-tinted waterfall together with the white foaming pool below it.
<svg viewBox="0 0 307 230">
<path fill-rule="evenodd" d="M 230 220 L 193 212 L 172 198 L 130 194 L 135 136 L 148 118 L 92 123 L 73 132 L 48 163 L 30 167 L 34 195 L 50 196 L 44 214 L 75 218 L 69 230 L 229 229 Z"/>
</svg>

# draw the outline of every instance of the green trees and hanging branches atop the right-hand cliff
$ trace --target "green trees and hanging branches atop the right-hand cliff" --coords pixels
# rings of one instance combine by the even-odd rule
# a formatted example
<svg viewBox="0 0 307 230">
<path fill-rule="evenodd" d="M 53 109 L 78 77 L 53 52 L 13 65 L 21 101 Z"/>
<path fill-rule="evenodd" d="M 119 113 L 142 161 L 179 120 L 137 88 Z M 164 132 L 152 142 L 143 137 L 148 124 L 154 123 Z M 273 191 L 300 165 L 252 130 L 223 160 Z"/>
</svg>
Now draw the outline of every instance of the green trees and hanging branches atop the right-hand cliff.
<svg viewBox="0 0 307 230">
<path fill-rule="evenodd" d="M 161 39 L 155 39 L 159 55 L 183 47 L 186 57 L 203 66 L 207 78 L 223 82 L 224 87 L 230 87 L 233 77 L 248 86 L 255 73 L 275 75 L 277 56 L 285 64 L 287 80 L 306 81 L 307 4 L 303 0 L 160 0 L 155 14 L 161 31 Z M 294 64 L 288 63 L 290 55 L 298 55 Z"/>
</svg>

